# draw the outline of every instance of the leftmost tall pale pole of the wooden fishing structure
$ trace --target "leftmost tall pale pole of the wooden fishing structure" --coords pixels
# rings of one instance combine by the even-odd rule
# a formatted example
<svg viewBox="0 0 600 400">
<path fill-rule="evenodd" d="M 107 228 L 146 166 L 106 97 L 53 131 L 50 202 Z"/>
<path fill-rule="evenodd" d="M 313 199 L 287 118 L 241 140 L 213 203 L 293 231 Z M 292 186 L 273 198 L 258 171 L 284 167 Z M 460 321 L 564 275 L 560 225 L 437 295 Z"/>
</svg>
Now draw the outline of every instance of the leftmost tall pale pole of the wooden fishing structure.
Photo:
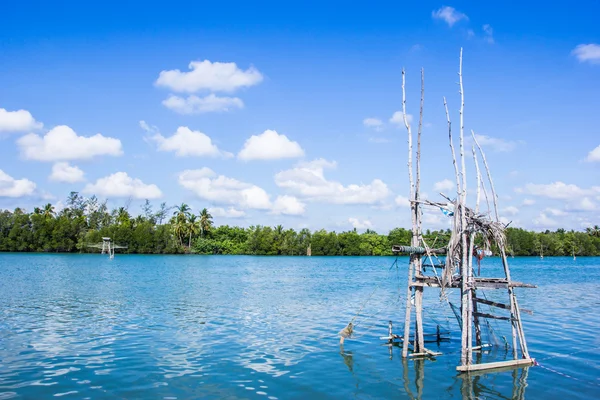
<svg viewBox="0 0 600 400">
<path fill-rule="evenodd" d="M 412 132 L 410 129 L 410 124 L 408 123 L 408 118 L 406 117 L 406 72 L 402 69 L 402 114 L 404 117 L 404 125 L 406 126 L 406 130 L 408 131 L 408 179 L 410 183 L 410 193 L 409 199 L 410 203 L 410 211 L 411 211 L 411 219 L 412 219 L 412 238 L 411 238 L 411 246 L 416 247 L 418 245 L 418 231 L 417 231 L 417 220 L 416 220 L 416 210 L 417 203 L 412 201 L 415 200 L 415 184 L 413 180 L 413 168 L 412 168 Z M 411 283 L 413 280 L 413 270 L 415 267 L 415 254 L 410 255 L 410 263 L 408 267 L 408 282 L 407 282 L 407 296 L 406 296 L 406 313 L 404 316 L 404 338 L 402 341 L 402 357 L 408 356 L 408 342 L 410 341 L 410 314 L 412 311 L 412 304 L 410 301 L 412 295 Z M 416 349 L 415 349 L 416 350 Z"/>
</svg>

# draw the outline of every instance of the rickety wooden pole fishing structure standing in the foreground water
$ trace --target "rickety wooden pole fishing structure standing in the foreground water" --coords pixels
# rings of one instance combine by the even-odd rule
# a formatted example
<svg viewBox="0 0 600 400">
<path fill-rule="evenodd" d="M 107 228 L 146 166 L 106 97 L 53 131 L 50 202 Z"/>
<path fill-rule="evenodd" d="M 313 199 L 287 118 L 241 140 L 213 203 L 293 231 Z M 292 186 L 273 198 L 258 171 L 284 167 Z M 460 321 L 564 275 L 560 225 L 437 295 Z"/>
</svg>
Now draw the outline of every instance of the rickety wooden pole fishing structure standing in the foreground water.
<svg viewBox="0 0 600 400">
<path fill-rule="evenodd" d="M 421 133 L 423 126 L 424 103 L 424 71 L 421 70 L 421 102 L 419 125 L 417 133 L 417 149 L 413 174 L 413 138 L 410 121 L 406 113 L 405 72 L 402 71 L 402 112 L 404 125 L 408 132 L 408 176 L 410 183 L 410 215 L 412 220 L 412 239 L 410 246 L 394 246 L 396 254 L 409 254 L 408 284 L 406 288 L 406 309 L 404 319 L 404 335 L 402 336 L 402 357 L 430 357 L 438 355 L 425 347 L 425 334 L 423 332 L 423 296 L 425 288 L 438 288 L 441 298 L 447 298 L 446 290 L 460 290 L 460 318 L 461 325 L 461 358 L 457 366 L 459 372 L 490 370 L 497 368 L 515 368 L 530 366 L 534 363 L 529 355 L 525 332 L 521 320 L 521 310 L 515 295 L 515 288 L 533 288 L 534 285 L 516 282 L 511 279 L 510 268 L 507 260 L 507 243 L 504 225 L 498 216 L 497 195 L 492 176 L 485 158 L 485 153 L 473 131 L 471 131 L 473 146 L 472 154 L 476 170 L 476 204 L 467 206 L 467 174 L 465 166 L 465 137 L 464 137 L 464 91 L 462 75 L 462 49 L 459 61 L 459 87 L 460 87 L 460 120 L 459 120 L 459 158 L 460 165 L 454 148 L 452 137 L 452 124 L 446 98 L 443 98 L 446 118 L 448 123 L 448 138 L 452 154 L 454 175 L 456 180 L 456 198 L 441 194 L 442 200 L 438 202 L 421 199 Z M 478 164 L 478 153 L 483 160 L 487 179 L 482 177 Z M 416 178 L 416 179 L 415 179 Z M 486 184 L 487 183 L 487 184 Z M 491 189 L 493 200 L 493 213 L 489 205 L 486 186 Z M 480 198 L 483 190 L 488 204 L 488 212 L 480 212 Z M 430 248 L 423 237 L 422 215 L 424 208 L 440 210 L 452 218 L 450 241 L 446 247 Z M 479 243 L 485 249 L 479 248 Z M 484 253 L 494 249 L 500 256 L 504 274 L 500 277 L 486 277 L 475 274 L 473 259 L 479 261 Z M 441 260 L 440 257 L 445 257 Z M 424 261 L 428 262 L 425 264 Z M 431 266 L 432 274 L 425 271 L 425 266 Z M 437 270 L 440 270 L 438 274 Z M 485 296 L 487 290 L 505 290 L 506 303 L 490 301 Z M 483 294 L 483 296 L 481 295 Z M 494 310 L 508 311 L 507 316 L 480 311 L 481 305 L 489 306 Z M 414 312 L 414 341 L 411 338 L 411 319 Z M 495 319 L 507 321 L 512 333 L 512 359 L 500 362 L 474 363 L 473 352 L 481 350 L 487 344 L 482 343 L 481 321 Z M 389 340 L 397 338 L 389 331 Z M 412 347 L 409 353 L 409 347 Z"/>
</svg>

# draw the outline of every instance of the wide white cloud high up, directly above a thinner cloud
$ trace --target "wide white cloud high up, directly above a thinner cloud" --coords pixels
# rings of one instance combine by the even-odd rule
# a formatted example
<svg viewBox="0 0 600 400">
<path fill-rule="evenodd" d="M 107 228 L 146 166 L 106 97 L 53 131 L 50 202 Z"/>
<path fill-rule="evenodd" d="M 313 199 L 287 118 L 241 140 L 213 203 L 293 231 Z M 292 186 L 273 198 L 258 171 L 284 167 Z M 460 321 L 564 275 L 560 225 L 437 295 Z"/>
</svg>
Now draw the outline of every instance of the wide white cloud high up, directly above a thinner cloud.
<svg viewBox="0 0 600 400">
<path fill-rule="evenodd" d="M 257 85 L 263 80 L 262 74 L 256 68 L 251 66 L 243 71 L 233 62 L 192 61 L 189 69 L 189 72 L 181 72 L 178 69 L 161 71 L 156 85 L 185 93 L 200 90 L 233 92 L 242 87 Z"/>
</svg>

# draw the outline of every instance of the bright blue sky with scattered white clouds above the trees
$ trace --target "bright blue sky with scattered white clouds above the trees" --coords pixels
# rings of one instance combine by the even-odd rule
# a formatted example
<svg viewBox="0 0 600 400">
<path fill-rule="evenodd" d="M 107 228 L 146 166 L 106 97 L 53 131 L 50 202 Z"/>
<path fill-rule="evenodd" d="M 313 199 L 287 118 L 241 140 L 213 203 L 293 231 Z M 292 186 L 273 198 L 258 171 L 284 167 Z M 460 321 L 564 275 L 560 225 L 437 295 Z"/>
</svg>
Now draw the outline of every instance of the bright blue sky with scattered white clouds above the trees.
<svg viewBox="0 0 600 400">
<path fill-rule="evenodd" d="M 208 207 L 217 224 L 408 226 L 401 70 L 415 134 L 425 70 L 422 190 L 437 200 L 455 190 L 442 96 L 457 135 L 463 47 L 465 132 L 501 216 L 600 223 L 597 2 L 323 3 L 3 5 L 0 208 L 80 191 L 133 213 L 145 198 Z"/>
</svg>

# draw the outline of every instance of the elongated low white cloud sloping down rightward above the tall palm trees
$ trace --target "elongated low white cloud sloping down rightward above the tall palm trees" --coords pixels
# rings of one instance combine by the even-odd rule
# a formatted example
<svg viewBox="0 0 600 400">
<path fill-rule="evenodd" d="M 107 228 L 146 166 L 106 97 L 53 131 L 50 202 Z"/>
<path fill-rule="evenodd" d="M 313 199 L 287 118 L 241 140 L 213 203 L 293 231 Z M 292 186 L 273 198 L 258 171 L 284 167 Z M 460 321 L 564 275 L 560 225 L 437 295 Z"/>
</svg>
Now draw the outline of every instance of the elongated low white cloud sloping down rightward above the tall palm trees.
<svg viewBox="0 0 600 400">
<path fill-rule="evenodd" d="M 271 208 L 269 195 L 264 189 L 217 175 L 210 168 L 185 170 L 179 174 L 179 184 L 201 199 L 218 204 L 231 204 L 240 208 L 268 210 Z"/>
</svg>

